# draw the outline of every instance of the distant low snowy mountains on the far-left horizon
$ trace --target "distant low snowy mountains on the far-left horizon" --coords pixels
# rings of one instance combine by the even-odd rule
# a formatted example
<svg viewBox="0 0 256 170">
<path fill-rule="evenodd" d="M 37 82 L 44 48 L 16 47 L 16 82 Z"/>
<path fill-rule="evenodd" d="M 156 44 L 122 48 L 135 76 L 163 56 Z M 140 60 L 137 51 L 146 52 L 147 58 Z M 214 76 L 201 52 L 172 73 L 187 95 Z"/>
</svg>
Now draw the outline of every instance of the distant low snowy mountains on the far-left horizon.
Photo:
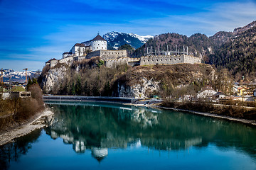
<svg viewBox="0 0 256 170">
<path fill-rule="evenodd" d="M 11 81 L 25 81 L 26 80 L 26 72 L 16 72 L 13 69 L 4 69 L 4 82 L 8 82 L 10 77 Z M 27 71 L 28 77 L 38 77 L 41 74 L 40 71 Z M 1 76 L 1 72 L 0 72 Z"/>
</svg>

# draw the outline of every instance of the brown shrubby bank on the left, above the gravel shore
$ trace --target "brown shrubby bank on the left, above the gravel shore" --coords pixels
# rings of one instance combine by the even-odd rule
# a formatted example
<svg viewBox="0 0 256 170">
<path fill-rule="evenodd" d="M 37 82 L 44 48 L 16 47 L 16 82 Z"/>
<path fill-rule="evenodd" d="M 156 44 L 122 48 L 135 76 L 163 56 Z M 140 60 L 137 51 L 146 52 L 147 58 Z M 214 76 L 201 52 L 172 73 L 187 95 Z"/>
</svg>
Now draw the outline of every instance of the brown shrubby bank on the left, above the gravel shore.
<svg viewBox="0 0 256 170">
<path fill-rule="evenodd" d="M 31 98 L 0 100 L 0 132 L 26 123 L 44 108 L 43 93 L 38 84 L 30 87 Z"/>
</svg>

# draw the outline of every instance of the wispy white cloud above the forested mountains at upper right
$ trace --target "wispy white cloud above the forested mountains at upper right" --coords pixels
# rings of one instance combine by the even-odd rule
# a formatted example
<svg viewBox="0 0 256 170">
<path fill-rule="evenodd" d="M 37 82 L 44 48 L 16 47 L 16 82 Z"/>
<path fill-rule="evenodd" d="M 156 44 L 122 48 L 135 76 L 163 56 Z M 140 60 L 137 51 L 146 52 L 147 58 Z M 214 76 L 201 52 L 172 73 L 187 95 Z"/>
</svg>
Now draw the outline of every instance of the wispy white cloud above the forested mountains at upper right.
<svg viewBox="0 0 256 170">
<path fill-rule="evenodd" d="M 159 33 L 175 32 L 186 35 L 205 33 L 213 35 L 219 30 L 232 31 L 256 20 L 256 3 L 252 1 L 215 4 L 204 13 L 191 15 L 172 15 L 166 18 L 150 18 L 132 21 L 134 25 L 144 26 L 144 30 Z M 146 28 L 145 28 L 146 27 Z"/>
</svg>

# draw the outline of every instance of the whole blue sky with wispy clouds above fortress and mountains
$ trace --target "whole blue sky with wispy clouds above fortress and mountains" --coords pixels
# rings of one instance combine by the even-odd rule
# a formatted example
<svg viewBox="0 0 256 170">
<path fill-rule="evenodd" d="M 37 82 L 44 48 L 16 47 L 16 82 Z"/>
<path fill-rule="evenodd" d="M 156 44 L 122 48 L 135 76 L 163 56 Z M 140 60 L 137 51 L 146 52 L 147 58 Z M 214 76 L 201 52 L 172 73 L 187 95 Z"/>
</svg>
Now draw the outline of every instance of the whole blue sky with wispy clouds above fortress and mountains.
<svg viewBox="0 0 256 170">
<path fill-rule="evenodd" d="M 0 0 L 0 69 L 41 70 L 110 31 L 214 35 L 256 21 L 256 0 Z"/>
</svg>

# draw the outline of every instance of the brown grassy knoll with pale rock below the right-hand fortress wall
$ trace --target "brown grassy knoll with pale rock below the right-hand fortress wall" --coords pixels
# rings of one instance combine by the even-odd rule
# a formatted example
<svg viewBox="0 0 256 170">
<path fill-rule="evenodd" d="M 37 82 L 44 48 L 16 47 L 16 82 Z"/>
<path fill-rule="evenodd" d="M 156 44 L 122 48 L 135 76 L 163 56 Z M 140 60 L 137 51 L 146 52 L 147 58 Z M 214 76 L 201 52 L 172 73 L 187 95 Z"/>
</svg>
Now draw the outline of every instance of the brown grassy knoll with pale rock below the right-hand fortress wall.
<svg viewBox="0 0 256 170">
<path fill-rule="evenodd" d="M 113 84 L 114 96 L 146 98 L 169 96 L 174 89 L 193 93 L 211 84 L 215 69 L 208 64 L 172 64 L 139 66 L 120 75 Z"/>
</svg>

